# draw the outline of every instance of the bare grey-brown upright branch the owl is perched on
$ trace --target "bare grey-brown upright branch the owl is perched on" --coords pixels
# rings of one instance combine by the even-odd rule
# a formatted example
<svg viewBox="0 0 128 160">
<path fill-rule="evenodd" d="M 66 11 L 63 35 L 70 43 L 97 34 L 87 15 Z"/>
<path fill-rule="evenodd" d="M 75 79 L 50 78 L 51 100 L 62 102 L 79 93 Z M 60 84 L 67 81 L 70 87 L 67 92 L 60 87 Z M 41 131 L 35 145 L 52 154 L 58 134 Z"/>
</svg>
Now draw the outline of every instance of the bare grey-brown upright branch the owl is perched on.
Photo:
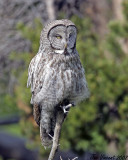
<svg viewBox="0 0 128 160">
<path fill-rule="evenodd" d="M 53 160 L 53 158 L 55 157 L 56 151 L 59 146 L 60 132 L 61 132 L 62 124 L 64 122 L 64 118 L 65 118 L 65 115 L 63 111 L 58 111 L 56 116 L 56 126 L 54 130 L 52 149 L 51 149 L 48 160 Z"/>
</svg>

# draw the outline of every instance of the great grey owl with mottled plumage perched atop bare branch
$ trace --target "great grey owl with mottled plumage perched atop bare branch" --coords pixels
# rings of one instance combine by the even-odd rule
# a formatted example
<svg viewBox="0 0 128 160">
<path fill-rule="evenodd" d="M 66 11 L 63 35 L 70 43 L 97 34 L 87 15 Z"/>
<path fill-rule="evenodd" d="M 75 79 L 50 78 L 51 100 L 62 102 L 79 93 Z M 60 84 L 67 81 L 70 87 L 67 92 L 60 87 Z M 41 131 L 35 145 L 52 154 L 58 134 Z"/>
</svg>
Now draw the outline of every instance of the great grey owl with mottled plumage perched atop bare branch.
<svg viewBox="0 0 128 160">
<path fill-rule="evenodd" d="M 34 119 L 45 147 L 52 144 L 58 106 L 67 115 L 70 104 L 89 97 L 76 37 L 76 26 L 70 20 L 48 23 L 41 32 L 39 51 L 29 65 L 27 86 L 31 85 Z"/>
</svg>

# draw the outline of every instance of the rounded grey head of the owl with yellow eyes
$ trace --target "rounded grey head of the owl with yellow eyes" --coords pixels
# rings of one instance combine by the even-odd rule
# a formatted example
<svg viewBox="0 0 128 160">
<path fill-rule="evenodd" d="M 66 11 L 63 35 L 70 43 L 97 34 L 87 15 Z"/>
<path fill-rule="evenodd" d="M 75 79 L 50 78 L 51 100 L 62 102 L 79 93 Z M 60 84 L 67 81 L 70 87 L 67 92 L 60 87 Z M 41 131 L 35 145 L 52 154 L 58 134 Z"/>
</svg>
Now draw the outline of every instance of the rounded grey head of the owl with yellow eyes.
<svg viewBox="0 0 128 160">
<path fill-rule="evenodd" d="M 62 19 L 48 23 L 40 38 L 40 44 L 49 52 L 70 54 L 76 48 L 77 29 L 70 20 Z"/>
</svg>

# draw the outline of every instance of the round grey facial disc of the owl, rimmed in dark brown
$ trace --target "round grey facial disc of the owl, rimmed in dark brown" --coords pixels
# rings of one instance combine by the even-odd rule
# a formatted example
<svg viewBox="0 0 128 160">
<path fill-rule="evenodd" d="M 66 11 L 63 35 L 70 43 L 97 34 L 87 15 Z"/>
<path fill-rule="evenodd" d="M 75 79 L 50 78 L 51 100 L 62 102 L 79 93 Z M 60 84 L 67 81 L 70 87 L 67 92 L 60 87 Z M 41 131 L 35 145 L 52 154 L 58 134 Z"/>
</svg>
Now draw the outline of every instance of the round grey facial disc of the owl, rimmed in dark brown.
<svg viewBox="0 0 128 160">
<path fill-rule="evenodd" d="M 74 26 L 56 25 L 48 33 L 50 47 L 54 53 L 69 55 L 76 47 L 76 28 Z"/>
</svg>

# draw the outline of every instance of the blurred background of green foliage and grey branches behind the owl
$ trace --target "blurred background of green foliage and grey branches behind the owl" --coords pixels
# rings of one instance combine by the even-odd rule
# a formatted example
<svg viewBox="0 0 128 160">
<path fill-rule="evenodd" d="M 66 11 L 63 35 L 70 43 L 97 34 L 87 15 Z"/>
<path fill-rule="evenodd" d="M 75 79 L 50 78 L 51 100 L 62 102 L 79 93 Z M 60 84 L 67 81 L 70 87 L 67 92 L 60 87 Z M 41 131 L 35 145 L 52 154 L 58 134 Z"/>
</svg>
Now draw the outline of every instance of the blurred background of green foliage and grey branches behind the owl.
<svg viewBox="0 0 128 160">
<path fill-rule="evenodd" d="M 48 157 L 33 120 L 27 69 L 44 24 L 61 18 L 78 28 L 91 97 L 70 110 L 59 155 L 128 155 L 128 0 L 0 0 L 0 160 Z"/>
</svg>

